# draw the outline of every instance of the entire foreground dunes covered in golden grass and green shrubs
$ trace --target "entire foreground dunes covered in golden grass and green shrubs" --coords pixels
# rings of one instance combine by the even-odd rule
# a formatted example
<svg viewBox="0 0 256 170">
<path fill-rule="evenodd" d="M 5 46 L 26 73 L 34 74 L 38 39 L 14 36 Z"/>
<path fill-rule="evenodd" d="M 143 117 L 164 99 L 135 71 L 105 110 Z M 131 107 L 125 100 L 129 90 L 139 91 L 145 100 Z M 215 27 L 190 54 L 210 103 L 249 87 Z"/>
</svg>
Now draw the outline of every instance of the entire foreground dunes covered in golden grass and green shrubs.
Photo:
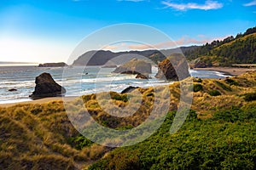
<svg viewBox="0 0 256 170">
<path fill-rule="evenodd" d="M 179 82 L 173 83 L 169 113 L 157 133 L 117 149 L 81 136 L 62 101 L 0 108 L 0 169 L 255 169 L 255 78 L 256 71 L 223 80 L 195 78 L 190 87 L 195 96 L 192 110 L 183 127 L 171 135 L 179 100 Z M 138 90 L 143 105 L 132 116 L 108 115 L 111 111 L 102 108 L 108 109 L 110 103 L 102 101 L 100 107 L 96 94 L 84 95 L 84 105 L 102 126 L 137 127 L 148 118 L 154 102 L 154 88 Z M 129 94 L 110 95 L 114 107 L 129 104 Z M 131 110 L 137 105 L 141 104 L 132 102 Z"/>
</svg>

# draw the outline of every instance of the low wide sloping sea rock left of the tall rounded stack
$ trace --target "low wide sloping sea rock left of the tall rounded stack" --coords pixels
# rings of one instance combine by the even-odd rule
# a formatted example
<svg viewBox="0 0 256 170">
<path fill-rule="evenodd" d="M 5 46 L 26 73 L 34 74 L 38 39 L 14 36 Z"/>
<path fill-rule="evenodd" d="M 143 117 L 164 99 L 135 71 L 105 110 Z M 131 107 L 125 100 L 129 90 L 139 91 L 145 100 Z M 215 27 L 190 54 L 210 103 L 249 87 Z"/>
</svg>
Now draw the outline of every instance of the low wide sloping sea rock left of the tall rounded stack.
<svg viewBox="0 0 256 170">
<path fill-rule="evenodd" d="M 131 59 L 124 65 L 120 65 L 113 72 L 121 74 L 150 74 L 152 73 L 151 64 L 141 59 Z"/>
</svg>

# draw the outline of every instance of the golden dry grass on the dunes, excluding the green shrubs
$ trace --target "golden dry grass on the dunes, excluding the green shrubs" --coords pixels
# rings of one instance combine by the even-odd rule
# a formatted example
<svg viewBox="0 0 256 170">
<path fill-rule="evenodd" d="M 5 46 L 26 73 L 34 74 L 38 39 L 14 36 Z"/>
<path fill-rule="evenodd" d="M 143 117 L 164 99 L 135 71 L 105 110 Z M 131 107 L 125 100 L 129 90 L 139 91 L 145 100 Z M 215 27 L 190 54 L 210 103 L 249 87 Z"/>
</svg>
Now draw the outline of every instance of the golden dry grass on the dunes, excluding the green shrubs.
<svg viewBox="0 0 256 170">
<path fill-rule="evenodd" d="M 203 79 L 202 82 L 194 82 L 202 85 L 202 90 L 194 93 L 191 109 L 198 113 L 200 118 L 208 118 L 215 111 L 223 111 L 232 106 L 245 107 L 255 105 L 255 102 L 247 102 L 242 94 L 256 92 L 256 71 L 247 72 L 238 77 L 227 79 Z M 234 82 L 235 81 L 235 82 Z M 230 84 L 230 82 L 234 82 Z M 166 95 L 168 89 L 162 89 L 161 95 Z M 179 82 L 169 86 L 170 111 L 177 110 L 180 89 Z M 221 95 L 211 96 L 210 90 L 218 90 Z M 109 95 L 89 94 L 84 95 L 84 106 L 94 117 L 96 122 L 103 126 L 137 127 L 150 115 L 154 106 L 154 88 L 139 88 L 141 98 L 136 94 L 111 93 L 110 100 L 102 100 L 101 106 L 97 99 Z M 130 102 L 128 97 L 134 97 Z M 141 100 L 140 100 L 141 99 Z M 140 103 L 141 102 L 141 103 Z M 155 105 L 161 108 L 157 101 Z M 69 109 L 77 111 L 79 100 L 69 102 Z M 127 111 L 135 111 L 131 116 L 117 117 L 108 114 L 108 111 L 121 108 Z M 104 111 L 102 108 L 108 108 Z M 138 108 L 138 109 L 137 109 Z M 110 150 L 101 145 L 92 144 L 83 150 L 76 150 L 68 139 L 78 136 L 79 133 L 73 127 L 67 117 L 62 101 L 53 101 L 45 104 L 26 104 L 11 107 L 0 107 L 0 167 L 3 169 L 74 169 L 90 164 L 104 156 Z"/>
</svg>

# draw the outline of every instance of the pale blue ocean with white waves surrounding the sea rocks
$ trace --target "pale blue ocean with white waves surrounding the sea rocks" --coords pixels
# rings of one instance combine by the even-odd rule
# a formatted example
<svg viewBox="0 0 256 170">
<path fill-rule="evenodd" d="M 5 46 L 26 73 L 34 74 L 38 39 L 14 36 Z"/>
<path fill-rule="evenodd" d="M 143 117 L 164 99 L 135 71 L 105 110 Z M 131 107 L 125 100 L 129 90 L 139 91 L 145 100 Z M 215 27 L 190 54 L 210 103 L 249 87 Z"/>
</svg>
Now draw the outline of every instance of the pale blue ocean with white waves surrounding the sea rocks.
<svg viewBox="0 0 256 170">
<path fill-rule="evenodd" d="M 28 101 L 29 95 L 35 88 L 35 77 L 43 72 L 48 72 L 67 90 L 66 96 L 80 96 L 102 91 L 121 92 L 123 89 L 134 87 L 150 87 L 170 84 L 154 78 L 157 68 L 153 67 L 152 79 L 136 79 L 135 75 L 121 75 L 112 73 L 114 68 L 101 68 L 99 66 L 44 68 L 35 65 L 26 66 L 0 66 L 0 104 Z M 224 78 L 227 77 L 218 71 L 189 71 L 193 77 Z M 15 88 L 17 91 L 9 92 Z"/>
</svg>

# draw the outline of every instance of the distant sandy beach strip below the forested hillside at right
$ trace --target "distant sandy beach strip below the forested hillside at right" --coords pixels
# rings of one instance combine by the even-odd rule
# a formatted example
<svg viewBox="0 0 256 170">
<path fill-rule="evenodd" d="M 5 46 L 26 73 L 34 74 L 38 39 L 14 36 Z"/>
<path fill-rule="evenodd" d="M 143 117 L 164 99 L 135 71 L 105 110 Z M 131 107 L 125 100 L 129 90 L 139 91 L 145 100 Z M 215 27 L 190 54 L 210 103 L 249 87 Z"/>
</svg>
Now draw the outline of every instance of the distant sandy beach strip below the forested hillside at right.
<svg viewBox="0 0 256 170">
<path fill-rule="evenodd" d="M 237 76 L 247 71 L 256 71 L 256 68 L 238 68 L 238 67 L 207 67 L 207 68 L 194 68 L 195 71 L 219 71 L 224 72 L 226 75 Z"/>
</svg>

